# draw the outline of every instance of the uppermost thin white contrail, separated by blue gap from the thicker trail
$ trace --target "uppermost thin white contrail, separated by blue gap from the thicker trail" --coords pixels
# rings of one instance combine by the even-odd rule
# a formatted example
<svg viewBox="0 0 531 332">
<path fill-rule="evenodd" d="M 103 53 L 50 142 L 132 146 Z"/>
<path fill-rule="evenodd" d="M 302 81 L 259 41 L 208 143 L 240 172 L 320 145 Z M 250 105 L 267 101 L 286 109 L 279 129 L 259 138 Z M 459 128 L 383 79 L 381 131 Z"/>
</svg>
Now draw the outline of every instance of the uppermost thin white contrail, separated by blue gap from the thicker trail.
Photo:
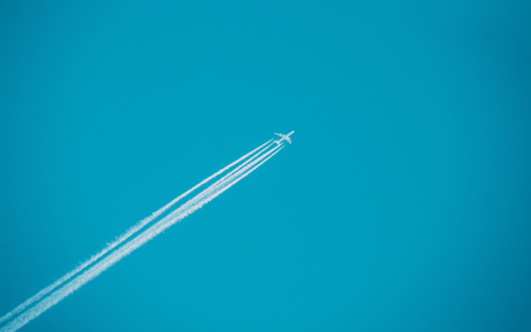
<svg viewBox="0 0 531 332">
<path fill-rule="evenodd" d="M 144 227 L 145 225 L 147 225 L 150 222 L 152 222 L 153 219 L 155 219 L 158 216 L 160 216 L 161 214 L 163 214 L 166 210 L 168 210 L 170 207 L 172 207 L 176 202 L 178 202 L 179 200 L 181 200 L 184 197 L 186 197 L 186 195 L 188 195 L 189 193 L 191 193 L 195 189 L 198 189 L 203 184 L 209 182 L 210 180 L 212 180 L 212 178 L 215 178 L 219 174 L 227 171 L 227 169 L 229 169 L 230 167 L 233 167 L 234 165 L 236 165 L 237 163 L 239 163 L 243 159 L 249 157 L 254 152 L 256 152 L 256 150 L 259 150 L 260 148 L 262 148 L 265 144 L 267 144 L 269 142 L 271 142 L 271 140 L 263 143 L 261 146 L 259 146 L 258 148 L 252 150 L 251 152 L 249 152 L 248 154 L 242 156 L 241 158 L 237 159 L 236 161 L 233 161 L 233 163 L 230 163 L 228 166 L 226 166 L 224 168 L 221 168 L 218 172 L 216 172 L 216 173 L 212 174 L 211 176 L 205 178 L 203 181 L 201 181 L 200 183 L 198 183 L 195 186 L 193 186 L 190 190 L 186 191 L 185 193 L 179 195 L 177 198 L 173 199 L 171 202 L 166 204 L 164 207 L 161 207 L 157 211 L 153 212 L 149 217 L 146 217 L 146 218 L 140 220 L 140 222 L 138 222 L 136 225 L 134 225 L 133 227 L 127 229 L 127 231 L 125 233 L 123 233 L 122 235 L 116 237 L 115 241 L 113 241 L 111 243 L 108 243 L 107 246 L 104 249 L 102 249 L 100 252 L 98 252 L 97 254 L 93 255 L 88 260 L 84 261 L 83 263 L 81 263 L 81 265 L 79 265 L 78 267 L 76 267 L 72 271 L 68 272 L 67 274 L 65 274 L 61 278 L 57 279 L 53 284 L 49 285 L 48 287 L 44 288 L 43 290 L 41 290 L 37 294 L 35 294 L 32 297 L 30 297 L 28 300 L 24 301 L 22 304 L 20 304 L 15 309 L 11 310 L 10 312 L 6 313 L 4 316 L 0 317 L 0 323 L 3 322 L 4 320 L 10 319 L 11 317 L 15 316 L 16 314 L 18 314 L 19 312 L 21 312 L 25 308 L 29 307 L 29 305 L 31 305 L 35 301 L 40 300 L 42 298 L 42 296 L 45 296 L 49 292 L 53 291 L 55 288 L 57 288 L 58 286 L 60 286 L 61 284 L 63 284 L 64 282 L 66 282 L 67 280 L 72 278 L 74 275 L 80 273 L 87 266 L 91 265 L 93 262 L 98 260 L 100 257 L 104 256 L 107 252 L 109 252 L 110 250 L 116 248 L 117 245 L 119 245 L 122 242 L 124 242 L 125 240 L 129 239 L 129 237 L 131 235 L 133 235 L 134 233 L 138 232 L 142 227 Z M 262 152 L 262 151 L 260 151 L 260 152 Z M 259 154 L 260 154 L 260 152 L 259 152 Z M 253 156 L 252 158 L 254 158 L 254 157 L 255 156 Z M 247 162 L 248 161 L 246 161 L 246 163 Z M 241 166 L 239 166 L 239 167 L 241 167 Z"/>
</svg>

